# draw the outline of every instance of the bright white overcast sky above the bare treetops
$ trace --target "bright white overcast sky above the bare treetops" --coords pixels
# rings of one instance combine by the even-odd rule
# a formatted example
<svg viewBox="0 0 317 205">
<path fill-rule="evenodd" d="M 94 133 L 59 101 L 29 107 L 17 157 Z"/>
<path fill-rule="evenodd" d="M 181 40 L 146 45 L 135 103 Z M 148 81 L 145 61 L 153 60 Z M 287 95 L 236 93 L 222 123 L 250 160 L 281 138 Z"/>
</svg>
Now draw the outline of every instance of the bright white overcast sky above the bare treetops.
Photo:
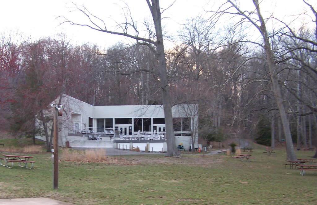
<svg viewBox="0 0 317 205">
<path fill-rule="evenodd" d="M 317 5 L 316 0 L 308 0 Z M 78 5 L 85 7 L 96 16 L 105 20 L 108 18 L 117 19 L 120 6 L 113 2 L 120 3 L 119 0 L 73 0 Z M 126 0 L 132 15 L 137 21 L 142 22 L 145 17 L 150 16 L 149 9 L 145 0 Z M 174 0 L 161 0 L 161 8 L 167 8 Z M 210 10 L 214 2 L 219 0 L 177 0 L 176 3 L 162 17 L 168 17 L 163 20 L 169 32 L 175 33 L 181 29 L 181 23 L 186 19 L 196 17 L 199 13 L 204 13 L 203 6 L 208 3 L 206 10 Z M 243 6 L 252 4 L 251 0 L 242 0 Z M 269 0 L 263 0 L 262 13 L 265 11 L 274 12 L 279 18 L 284 15 L 293 15 L 299 13 L 303 5 L 301 0 L 275 0 L 270 3 Z M 121 2 L 122 5 L 122 2 Z M 10 30 L 18 30 L 25 36 L 30 36 L 33 40 L 44 36 L 55 36 L 58 33 L 65 33 L 73 43 L 96 43 L 100 47 L 109 47 L 122 37 L 93 31 L 88 28 L 74 26 L 69 24 L 60 25 L 61 20 L 56 16 L 67 16 L 70 19 L 81 23 L 82 15 L 77 16 L 74 12 L 69 12 L 72 7 L 69 0 L 3 0 L 0 1 L 0 33 L 8 33 Z M 247 8 L 246 7 L 246 8 Z M 306 9 L 307 10 L 307 9 Z M 83 20 L 82 20 L 83 21 Z"/>
</svg>

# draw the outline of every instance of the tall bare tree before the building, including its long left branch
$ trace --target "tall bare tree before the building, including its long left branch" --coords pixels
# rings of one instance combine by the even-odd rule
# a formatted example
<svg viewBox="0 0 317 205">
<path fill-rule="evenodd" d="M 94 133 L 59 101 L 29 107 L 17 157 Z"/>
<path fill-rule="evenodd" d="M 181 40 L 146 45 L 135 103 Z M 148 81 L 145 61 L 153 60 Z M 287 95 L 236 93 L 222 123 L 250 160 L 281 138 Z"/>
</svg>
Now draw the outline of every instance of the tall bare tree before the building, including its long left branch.
<svg viewBox="0 0 317 205">
<path fill-rule="evenodd" d="M 68 20 L 66 17 L 64 18 L 64 23 L 69 23 L 71 25 L 79 25 L 85 26 L 93 30 L 97 30 L 100 32 L 115 34 L 120 36 L 126 36 L 128 38 L 132 38 L 136 40 L 138 44 L 148 46 L 154 55 L 156 56 L 158 68 L 159 68 L 159 76 L 161 83 L 161 90 L 163 96 L 163 106 L 164 106 L 164 115 L 165 115 L 165 126 L 166 126 L 166 139 L 167 139 L 167 156 L 179 155 L 178 150 L 175 146 L 175 136 L 173 129 L 173 118 L 171 112 L 171 96 L 169 91 L 168 84 L 168 74 L 166 69 L 166 59 L 165 59 L 165 50 L 164 50 L 164 39 L 162 33 L 162 23 L 161 23 L 161 10 L 159 5 L 159 0 L 146 0 L 146 3 L 151 11 L 151 15 L 153 18 L 153 23 L 155 27 L 155 31 L 153 34 L 149 35 L 149 38 L 144 38 L 139 36 L 139 31 L 135 23 L 133 22 L 131 16 L 126 16 L 126 22 L 122 24 L 118 24 L 118 27 L 122 29 L 122 31 L 117 31 L 115 29 L 108 30 L 106 27 L 106 23 L 100 18 L 92 15 L 84 6 L 77 6 L 75 8 L 77 11 L 82 12 L 84 16 L 88 18 L 88 24 L 75 23 L 73 21 Z M 130 30 L 131 29 L 131 30 Z M 133 31 L 133 33 L 132 33 Z M 150 32 L 151 33 L 151 32 Z M 153 37 L 156 38 L 153 40 Z"/>
</svg>

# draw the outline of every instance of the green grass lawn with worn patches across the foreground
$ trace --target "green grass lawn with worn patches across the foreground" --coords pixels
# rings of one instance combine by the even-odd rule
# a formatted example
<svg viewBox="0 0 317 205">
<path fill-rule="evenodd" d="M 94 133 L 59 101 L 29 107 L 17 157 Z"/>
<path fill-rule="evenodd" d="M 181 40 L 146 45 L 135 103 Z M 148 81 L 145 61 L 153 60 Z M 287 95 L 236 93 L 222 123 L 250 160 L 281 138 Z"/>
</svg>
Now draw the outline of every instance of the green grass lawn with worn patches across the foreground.
<svg viewBox="0 0 317 205">
<path fill-rule="evenodd" d="M 316 204 L 317 172 L 301 176 L 297 169 L 284 168 L 284 149 L 270 156 L 264 150 L 255 147 L 252 162 L 227 155 L 121 155 L 108 158 L 116 158 L 112 163 L 68 162 L 61 153 L 57 190 L 51 153 L 27 154 L 36 161 L 34 169 L 0 167 L 0 198 L 48 197 L 73 204 Z M 314 152 L 296 155 L 309 158 Z"/>
</svg>

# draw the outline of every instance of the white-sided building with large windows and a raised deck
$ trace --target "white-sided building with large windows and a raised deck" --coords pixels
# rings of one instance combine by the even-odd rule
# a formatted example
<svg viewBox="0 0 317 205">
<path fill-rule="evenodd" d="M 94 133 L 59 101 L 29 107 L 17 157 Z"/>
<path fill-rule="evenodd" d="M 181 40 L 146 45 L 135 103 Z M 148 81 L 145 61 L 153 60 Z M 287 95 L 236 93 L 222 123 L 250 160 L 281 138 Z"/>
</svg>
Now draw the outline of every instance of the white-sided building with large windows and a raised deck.
<svg viewBox="0 0 317 205">
<path fill-rule="evenodd" d="M 58 104 L 59 98 L 53 104 Z M 118 148 L 160 152 L 167 150 L 163 105 L 93 106 L 62 95 L 58 117 L 59 146 Z M 53 116 L 54 108 L 47 114 Z M 172 106 L 175 146 L 198 147 L 198 105 Z M 41 122 L 37 122 L 38 125 Z M 37 136 L 46 140 L 43 136 Z"/>
</svg>

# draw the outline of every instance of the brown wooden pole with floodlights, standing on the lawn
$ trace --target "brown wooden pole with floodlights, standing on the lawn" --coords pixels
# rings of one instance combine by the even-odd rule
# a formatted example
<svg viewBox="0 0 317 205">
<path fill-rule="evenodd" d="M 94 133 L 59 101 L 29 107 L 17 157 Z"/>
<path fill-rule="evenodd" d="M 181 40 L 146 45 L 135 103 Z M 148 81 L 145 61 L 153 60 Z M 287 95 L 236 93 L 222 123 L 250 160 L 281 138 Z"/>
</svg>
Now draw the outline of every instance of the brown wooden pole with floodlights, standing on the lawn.
<svg viewBox="0 0 317 205">
<path fill-rule="evenodd" d="M 57 128 L 58 109 L 54 108 L 54 170 L 53 170 L 53 188 L 58 189 L 58 128 Z"/>
</svg>

